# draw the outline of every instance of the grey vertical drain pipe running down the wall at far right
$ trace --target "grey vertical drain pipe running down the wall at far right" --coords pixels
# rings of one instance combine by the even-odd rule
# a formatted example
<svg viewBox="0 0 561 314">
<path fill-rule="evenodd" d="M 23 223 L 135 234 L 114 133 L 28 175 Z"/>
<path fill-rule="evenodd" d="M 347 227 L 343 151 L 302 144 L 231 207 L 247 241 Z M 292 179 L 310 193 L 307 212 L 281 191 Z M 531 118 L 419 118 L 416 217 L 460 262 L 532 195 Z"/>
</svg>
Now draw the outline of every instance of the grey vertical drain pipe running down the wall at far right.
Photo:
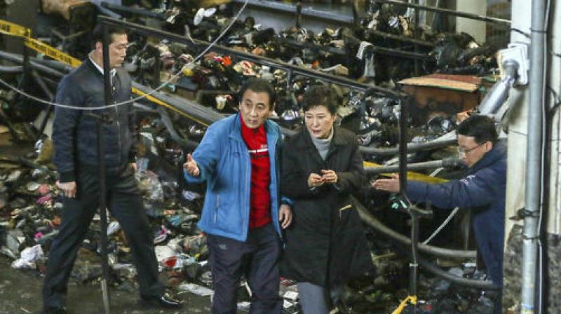
<svg viewBox="0 0 561 314">
<path fill-rule="evenodd" d="M 536 262 L 538 218 L 541 193 L 541 118 L 543 115 L 543 48 L 545 43 L 546 1 L 532 1 L 530 73 L 528 101 L 528 142 L 526 147 L 525 217 L 522 233 L 522 314 L 536 310 Z"/>
</svg>

